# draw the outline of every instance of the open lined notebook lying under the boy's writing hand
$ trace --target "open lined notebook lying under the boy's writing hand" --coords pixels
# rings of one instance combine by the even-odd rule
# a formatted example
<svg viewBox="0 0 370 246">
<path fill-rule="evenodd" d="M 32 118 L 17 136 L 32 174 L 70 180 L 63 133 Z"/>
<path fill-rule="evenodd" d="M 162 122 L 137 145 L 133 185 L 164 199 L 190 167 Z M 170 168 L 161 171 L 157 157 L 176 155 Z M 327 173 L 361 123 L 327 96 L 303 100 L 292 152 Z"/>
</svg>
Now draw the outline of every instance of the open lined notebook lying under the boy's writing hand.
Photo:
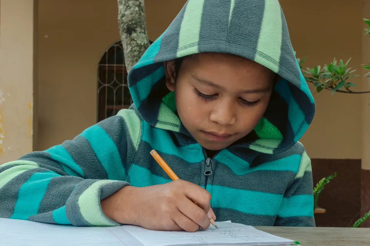
<svg viewBox="0 0 370 246">
<path fill-rule="evenodd" d="M 252 226 L 217 222 L 219 229 L 204 231 L 159 232 L 138 226 L 75 227 L 0 218 L 0 245 L 295 245 L 292 240 L 273 236 Z"/>
</svg>

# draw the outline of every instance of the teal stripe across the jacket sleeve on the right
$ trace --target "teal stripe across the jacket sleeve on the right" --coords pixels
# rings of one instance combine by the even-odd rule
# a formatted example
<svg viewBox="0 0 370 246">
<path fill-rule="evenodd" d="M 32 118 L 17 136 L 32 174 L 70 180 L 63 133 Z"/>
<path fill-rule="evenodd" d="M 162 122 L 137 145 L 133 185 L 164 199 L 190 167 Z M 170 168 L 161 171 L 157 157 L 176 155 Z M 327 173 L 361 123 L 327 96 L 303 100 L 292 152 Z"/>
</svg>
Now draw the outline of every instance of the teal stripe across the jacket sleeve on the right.
<svg viewBox="0 0 370 246">
<path fill-rule="evenodd" d="M 284 198 L 279 211 L 280 217 L 313 216 L 313 196 L 295 195 Z"/>
</svg>

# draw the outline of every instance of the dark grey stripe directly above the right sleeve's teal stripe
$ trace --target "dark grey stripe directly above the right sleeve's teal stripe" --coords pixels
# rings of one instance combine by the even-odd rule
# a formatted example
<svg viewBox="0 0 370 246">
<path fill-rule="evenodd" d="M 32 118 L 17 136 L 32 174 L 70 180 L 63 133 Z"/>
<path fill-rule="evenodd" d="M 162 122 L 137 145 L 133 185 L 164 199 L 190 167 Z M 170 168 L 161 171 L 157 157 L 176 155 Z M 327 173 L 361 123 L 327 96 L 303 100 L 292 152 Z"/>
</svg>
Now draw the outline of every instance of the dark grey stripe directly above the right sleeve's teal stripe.
<svg viewBox="0 0 370 246">
<path fill-rule="evenodd" d="M 284 197 L 289 198 L 293 195 L 313 195 L 312 172 L 305 171 L 302 177 L 294 180 Z"/>
</svg>

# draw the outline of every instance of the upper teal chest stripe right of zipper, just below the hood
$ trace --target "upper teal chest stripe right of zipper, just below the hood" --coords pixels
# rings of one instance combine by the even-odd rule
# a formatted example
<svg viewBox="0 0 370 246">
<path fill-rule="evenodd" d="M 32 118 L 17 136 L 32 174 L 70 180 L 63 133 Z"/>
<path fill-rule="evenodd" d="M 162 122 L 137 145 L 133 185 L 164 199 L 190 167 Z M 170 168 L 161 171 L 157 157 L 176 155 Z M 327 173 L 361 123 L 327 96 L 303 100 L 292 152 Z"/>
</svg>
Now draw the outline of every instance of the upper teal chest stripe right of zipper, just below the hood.
<svg viewBox="0 0 370 246">
<path fill-rule="evenodd" d="M 244 175 L 251 173 L 253 171 L 292 171 L 297 172 L 299 168 L 299 163 L 302 156 L 299 154 L 291 155 L 283 159 L 274 160 L 272 162 L 267 162 L 260 164 L 256 167 L 249 167 L 249 163 L 245 160 L 233 155 L 226 149 L 223 149 L 218 155 L 216 155 L 215 160 L 225 164 L 230 167 L 230 169 L 237 175 Z"/>
</svg>

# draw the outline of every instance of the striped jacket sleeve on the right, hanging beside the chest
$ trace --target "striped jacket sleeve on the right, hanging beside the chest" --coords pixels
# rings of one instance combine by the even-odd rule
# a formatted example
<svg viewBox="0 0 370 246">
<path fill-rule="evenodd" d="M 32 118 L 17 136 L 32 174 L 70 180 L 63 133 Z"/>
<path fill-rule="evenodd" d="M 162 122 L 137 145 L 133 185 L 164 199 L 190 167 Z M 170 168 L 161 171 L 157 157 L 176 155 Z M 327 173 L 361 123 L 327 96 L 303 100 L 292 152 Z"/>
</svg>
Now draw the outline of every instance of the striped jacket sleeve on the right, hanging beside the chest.
<svg viewBox="0 0 370 246">
<path fill-rule="evenodd" d="M 286 190 L 274 226 L 315 226 L 312 168 L 306 152 L 293 183 Z"/>
</svg>

